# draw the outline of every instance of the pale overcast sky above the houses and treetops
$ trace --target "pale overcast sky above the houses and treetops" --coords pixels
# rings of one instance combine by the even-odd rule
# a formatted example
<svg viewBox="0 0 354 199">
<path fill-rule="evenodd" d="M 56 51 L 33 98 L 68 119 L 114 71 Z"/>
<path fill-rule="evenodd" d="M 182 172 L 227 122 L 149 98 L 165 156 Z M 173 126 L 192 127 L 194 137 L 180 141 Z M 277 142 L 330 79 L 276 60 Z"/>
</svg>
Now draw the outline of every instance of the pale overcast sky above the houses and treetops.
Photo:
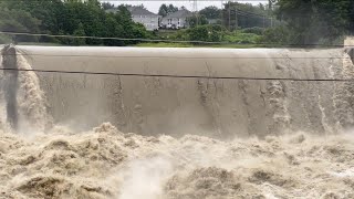
<svg viewBox="0 0 354 199">
<path fill-rule="evenodd" d="M 147 10 L 157 13 L 158 8 L 163 4 L 174 4 L 177 7 L 185 6 L 188 10 L 192 10 L 192 0 L 175 0 L 175 1 L 164 1 L 164 0 L 143 0 L 143 1 L 132 1 L 132 0 L 101 0 L 102 2 L 110 1 L 111 3 L 114 3 L 116 6 L 126 3 L 126 4 L 144 4 Z M 235 0 L 233 0 L 235 1 Z M 223 2 L 227 2 L 226 0 Z M 267 3 L 268 0 L 239 0 L 238 2 L 242 3 L 252 3 L 252 4 L 259 4 L 259 3 Z M 215 0 L 198 0 L 198 10 L 204 9 L 208 6 L 216 6 L 218 8 L 221 8 L 221 0 L 215 1 Z"/>
</svg>

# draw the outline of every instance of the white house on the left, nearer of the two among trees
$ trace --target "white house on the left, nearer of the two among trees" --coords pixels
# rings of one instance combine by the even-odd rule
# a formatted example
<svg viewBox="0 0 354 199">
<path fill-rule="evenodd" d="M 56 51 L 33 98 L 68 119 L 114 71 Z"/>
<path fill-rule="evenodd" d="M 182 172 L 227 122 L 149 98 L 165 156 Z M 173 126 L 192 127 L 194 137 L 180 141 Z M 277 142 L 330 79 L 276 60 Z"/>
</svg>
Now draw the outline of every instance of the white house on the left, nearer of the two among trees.
<svg viewBox="0 0 354 199">
<path fill-rule="evenodd" d="M 134 22 L 144 24 L 146 30 L 158 30 L 160 15 L 157 15 L 142 7 L 129 7 L 128 10 Z"/>
</svg>

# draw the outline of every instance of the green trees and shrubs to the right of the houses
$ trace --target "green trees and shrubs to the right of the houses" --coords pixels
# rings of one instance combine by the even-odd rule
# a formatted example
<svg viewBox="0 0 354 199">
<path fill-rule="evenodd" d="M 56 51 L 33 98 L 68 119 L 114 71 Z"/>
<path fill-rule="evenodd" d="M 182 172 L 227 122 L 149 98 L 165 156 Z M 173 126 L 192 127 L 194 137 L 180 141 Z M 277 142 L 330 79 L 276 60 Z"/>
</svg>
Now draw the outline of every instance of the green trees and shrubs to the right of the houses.
<svg viewBox="0 0 354 199">
<path fill-rule="evenodd" d="M 221 19 L 218 24 L 228 31 L 254 30 L 261 33 L 262 43 L 343 44 L 344 36 L 354 34 L 353 0 L 269 0 L 258 6 L 227 2 L 223 9 L 205 8 L 199 15 Z"/>
</svg>

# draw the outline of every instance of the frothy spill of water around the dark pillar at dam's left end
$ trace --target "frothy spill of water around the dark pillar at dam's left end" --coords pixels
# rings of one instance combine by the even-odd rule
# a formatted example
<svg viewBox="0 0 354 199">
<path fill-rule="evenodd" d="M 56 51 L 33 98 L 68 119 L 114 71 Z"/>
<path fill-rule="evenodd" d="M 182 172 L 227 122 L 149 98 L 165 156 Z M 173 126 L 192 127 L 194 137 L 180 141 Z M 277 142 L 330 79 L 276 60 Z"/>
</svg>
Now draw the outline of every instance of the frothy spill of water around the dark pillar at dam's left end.
<svg viewBox="0 0 354 199">
<path fill-rule="evenodd" d="M 52 117 L 48 114 L 38 75 L 12 44 L 2 50 L 2 65 L 8 125 L 14 132 L 27 134 L 51 127 Z"/>
</svg>

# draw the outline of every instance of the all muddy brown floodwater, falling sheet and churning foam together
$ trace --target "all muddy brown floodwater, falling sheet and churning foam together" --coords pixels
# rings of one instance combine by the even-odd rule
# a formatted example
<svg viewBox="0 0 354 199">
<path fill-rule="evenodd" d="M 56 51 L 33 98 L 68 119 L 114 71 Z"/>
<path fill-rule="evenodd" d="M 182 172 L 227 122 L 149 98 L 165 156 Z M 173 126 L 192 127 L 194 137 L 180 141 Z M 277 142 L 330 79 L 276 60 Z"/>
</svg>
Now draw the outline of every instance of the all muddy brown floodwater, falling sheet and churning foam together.
<svg viewBox="0 0 354 199">
<path fill-rule="evenodd" d="M 0 199 L 354 198 L 352 54 L 7 46 Z"/>
</svg>

